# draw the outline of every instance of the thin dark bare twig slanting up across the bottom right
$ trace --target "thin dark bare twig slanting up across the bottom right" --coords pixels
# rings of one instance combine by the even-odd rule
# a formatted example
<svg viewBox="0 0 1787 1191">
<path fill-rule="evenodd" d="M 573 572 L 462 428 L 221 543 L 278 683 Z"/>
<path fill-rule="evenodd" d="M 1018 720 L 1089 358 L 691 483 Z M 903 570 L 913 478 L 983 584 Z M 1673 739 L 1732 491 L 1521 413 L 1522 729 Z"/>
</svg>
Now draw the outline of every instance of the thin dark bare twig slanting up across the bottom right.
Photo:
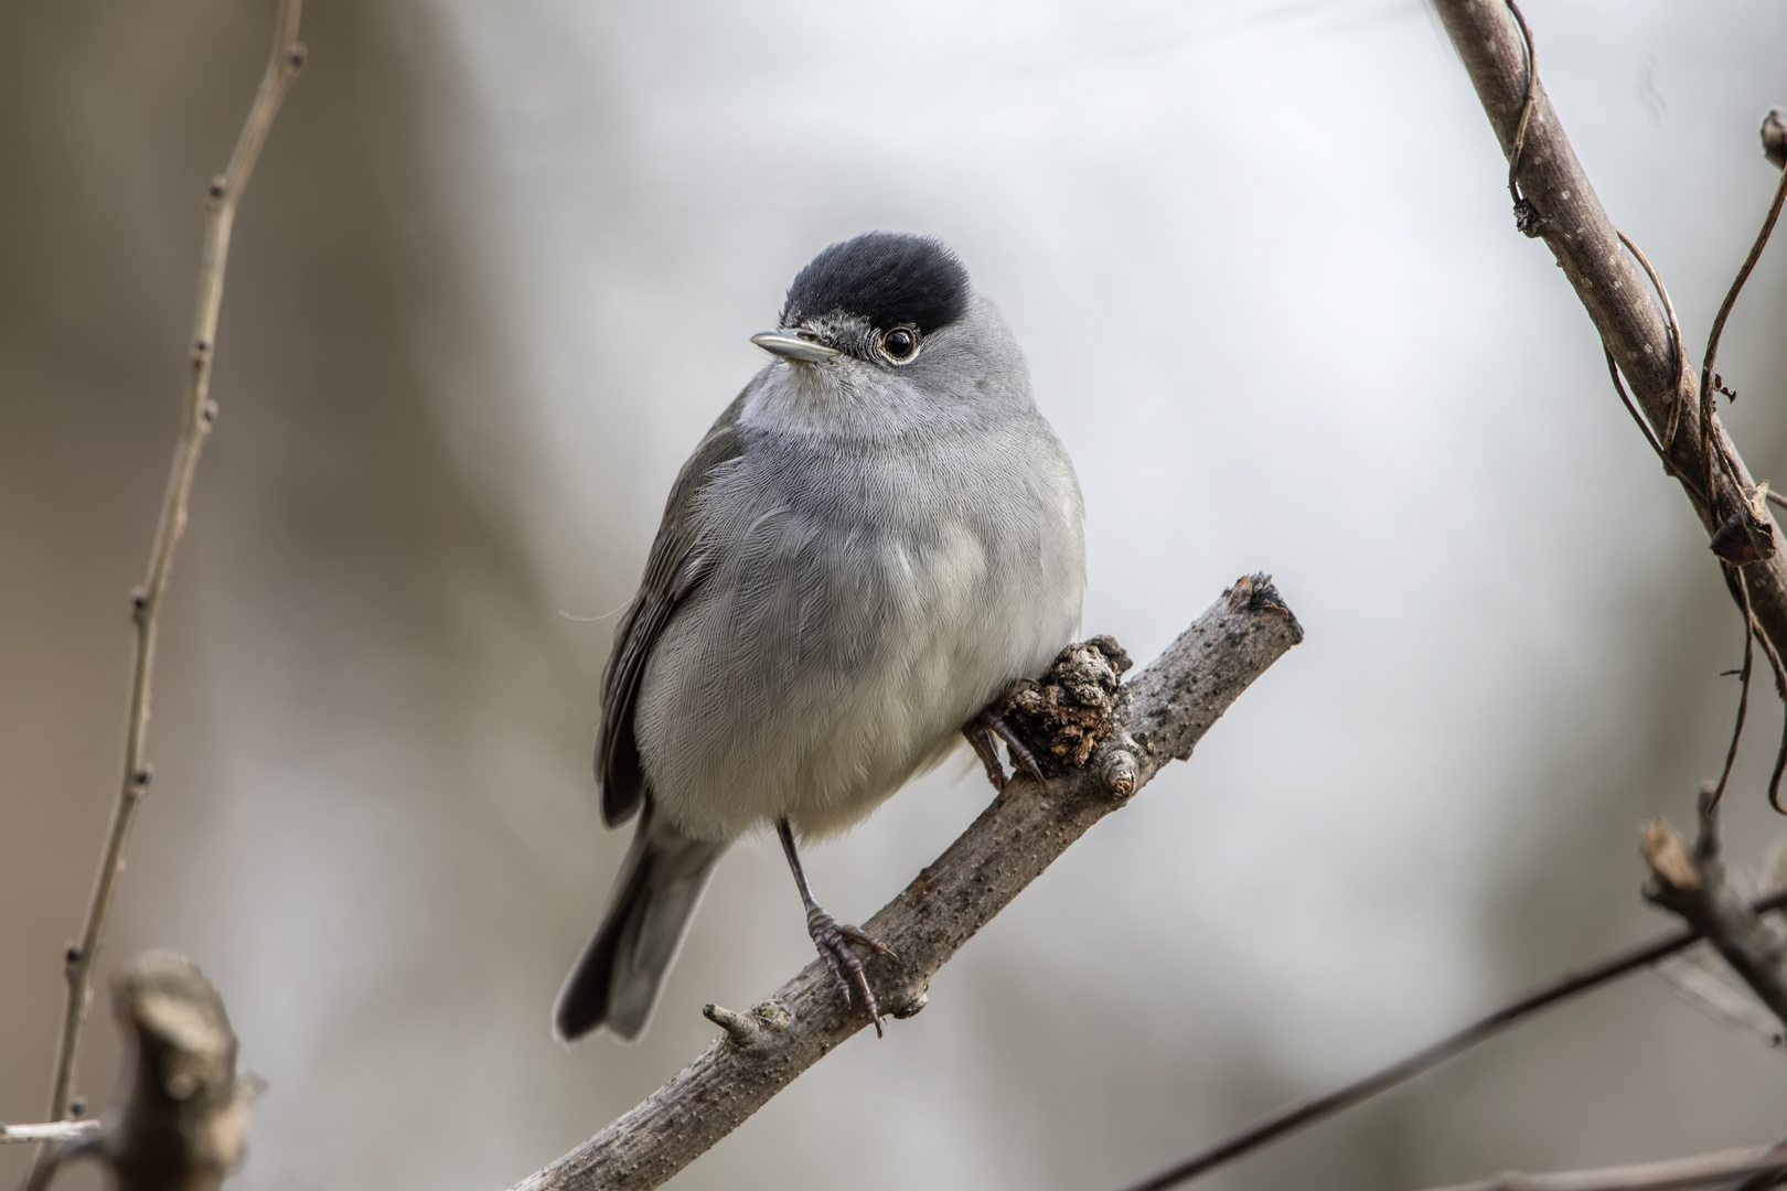
<svg viewBox="0 0 1787 1191">
<path fill-rule="evenodd" d="M 1782 907 L 1787 907 L 1787 889 L 1774 889 L 1749 904 L 1749 909 L 1757 914 L 1767 914 Z M 1144 1179 L 1129 1187 L 1129 1191 L 1163 1191 L 1163 1187 L 1172 1187 L 1201 1175 L 1208 1175 L 1219 1166 L 1228 1166 L 1229 1162 L 1246 1157 L 1247 1154 L 1253 1154 L 1279 1137 L 1294 1134 L 1306 1125 L 1313 1125 L 1315 1121 L 1326 1120 L 1335 1112 L 1351 1109 L 1353 1105 L 1376 1096 L 1380 1091 L 1388 1091 L 1390 1087 L 1439 1066 L 1446 1059 L 1464 1054 L 1478 1043 L 1489 1041 L 1510 1025 L 1524 1021 L 1542 1009 L 1549 1009 L 1551 1005 L 1562 1004 L 1573 996 L 1598 989 L 1610 980 L 1617 980 L 1619 977 L 1630 975 L 1640 968 L 1648 968 L 1667 955 L 1674 955 L 1685 946 L 1692 946 L 1701 937 L 1705 936 L 1701 936 L 1701 932 L 1694 927 L 1673 930 L 1651 939 L 1649 943 L 1639 943 L 1637 946 L 1608 955 L 1598 964 L 1567 971 L 1556 980 L 1551 980 L 1524 996 L 1517 996 L 1506 1005 L 1478 1018 L 1462 1030 L 1447 1034 L 1437 1043 L 1422 1046 L 1405 1059 L 1397 1059 L 1388 1066 L 1378 1068 L 1371 1075 L 1319 1096 L 1292 1100 L 1290 1104 L 1267 1112 L 1260 1120 L 1237 1129 L 1228 1137 L 1204 1146 L 1183 1162 L 1163 1170 L 1151 1179 Z"/>
</svg>

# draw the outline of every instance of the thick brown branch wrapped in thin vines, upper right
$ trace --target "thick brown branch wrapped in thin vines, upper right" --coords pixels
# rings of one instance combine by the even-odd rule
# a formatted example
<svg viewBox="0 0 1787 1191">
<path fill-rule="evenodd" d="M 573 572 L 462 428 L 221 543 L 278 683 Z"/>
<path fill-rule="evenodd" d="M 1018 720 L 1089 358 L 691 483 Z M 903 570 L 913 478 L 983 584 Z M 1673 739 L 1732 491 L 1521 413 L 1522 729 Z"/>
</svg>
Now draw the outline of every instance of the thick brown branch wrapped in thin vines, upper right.
<svg viewBox="0 0 1787 1191">
<path fill-rule="evenodd" d="M 1512 159 L 1526 98 L 1526 48 L 1519 23 L 1505 0 L 1435 0 L 1435 7 L 1476 86 L 1503 155 Z M 1714 448 L 1723 446 L 1737 482 L 1714 466 L 1714 491 L 1710 496 L 1701 491 L 1708 466 L 1701 452 L 1699 384 L 1685 357 L 1687 348 L 1671 343 L 1669 321 L 1649 279 L 1607 218 L 1537 79 L 1517 179 L 1537 211 L 1537 236 L 1551 248 L 1601 343 L 1632 382 L 1644 416 L 1658 429 L 1674 475 L 1710 537 L 1726 520 L 1751 507 L 1746 496 L 1755 480 L 1714 418 Z M 1673 441 L 1667 436 L 1671 425 Z M 1762 630 L 1776 652 L 1787 654 L 1787 554 L 1749 562 L 1744 575 Z"/>
</svg>

